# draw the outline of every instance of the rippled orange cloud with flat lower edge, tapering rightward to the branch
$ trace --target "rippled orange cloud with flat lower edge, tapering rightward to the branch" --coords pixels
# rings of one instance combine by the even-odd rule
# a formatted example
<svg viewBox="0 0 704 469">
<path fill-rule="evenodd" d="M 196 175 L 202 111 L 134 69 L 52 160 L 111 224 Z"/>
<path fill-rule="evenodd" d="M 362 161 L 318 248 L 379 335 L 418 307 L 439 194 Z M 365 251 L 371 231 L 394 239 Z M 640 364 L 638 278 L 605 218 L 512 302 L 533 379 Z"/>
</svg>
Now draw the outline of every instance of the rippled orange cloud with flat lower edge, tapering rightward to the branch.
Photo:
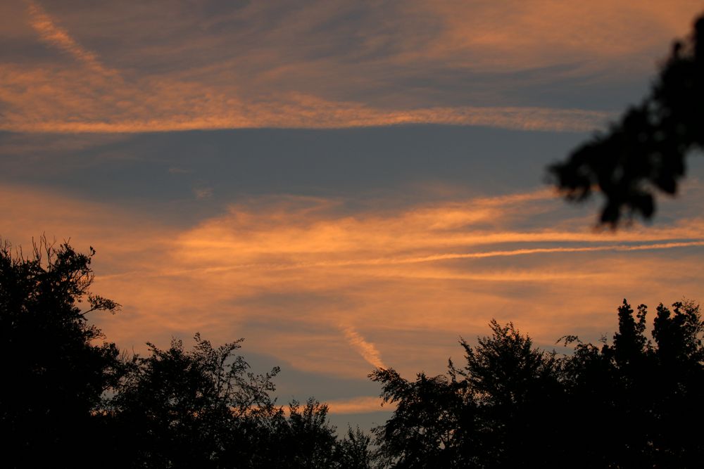
<svg viewBox="0 0 704 469">
<path fill-rule="evenodd" d="M 610 114 L 550 108 L 381 110 L 303 94 L 253 105 L 237 89 L 209 89 L 171 79 L 127 83 L 81 70 L 0 70 L 0 129 L 23 132 L 132 133 L 191 129 L 334 129 L 398 124 L 482 125 L 520 130 L 588 131 Z"/>
</svg>

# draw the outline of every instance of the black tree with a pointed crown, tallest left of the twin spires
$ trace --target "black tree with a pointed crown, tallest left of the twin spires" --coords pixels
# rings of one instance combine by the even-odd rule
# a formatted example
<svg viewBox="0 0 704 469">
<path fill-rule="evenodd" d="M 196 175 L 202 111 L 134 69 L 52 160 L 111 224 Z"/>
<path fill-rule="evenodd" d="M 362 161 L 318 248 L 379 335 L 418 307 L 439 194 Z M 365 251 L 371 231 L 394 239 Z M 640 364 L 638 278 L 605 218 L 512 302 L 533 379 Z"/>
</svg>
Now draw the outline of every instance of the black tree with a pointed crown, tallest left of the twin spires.
<svg viewBox="0 0 704 469">
<path fill-rule="evenodd" d="M 491 336 L 476 347 L 465 340 L 463 376 L 477 403 L 477 462 L 489 467 L 551 467 L 558 463 L 562 435 L 556 431 L 564 396 L 554 353 L 533 346 L 508 323 L 489 323 Z"/>
</svg>

